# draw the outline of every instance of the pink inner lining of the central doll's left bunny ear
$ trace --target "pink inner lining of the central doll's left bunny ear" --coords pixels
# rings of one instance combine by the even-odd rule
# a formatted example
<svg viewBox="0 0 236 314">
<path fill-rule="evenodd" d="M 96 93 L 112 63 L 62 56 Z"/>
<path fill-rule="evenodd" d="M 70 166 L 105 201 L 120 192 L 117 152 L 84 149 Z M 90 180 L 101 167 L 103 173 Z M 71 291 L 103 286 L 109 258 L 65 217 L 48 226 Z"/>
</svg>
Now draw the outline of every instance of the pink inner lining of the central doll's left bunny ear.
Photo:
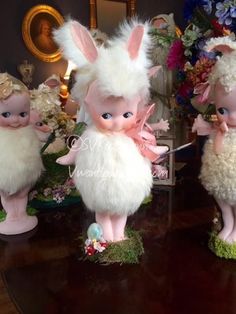
<svg viewBox="0 0 236 314">
<path fill-rule="evenodd" d="M 94 63 L 98 57 L 97 48 L 88 30 L 74 21 L 71 23 L 71 35 L 76 46 L 80 49 L 85 58 Z"/>
</svg>

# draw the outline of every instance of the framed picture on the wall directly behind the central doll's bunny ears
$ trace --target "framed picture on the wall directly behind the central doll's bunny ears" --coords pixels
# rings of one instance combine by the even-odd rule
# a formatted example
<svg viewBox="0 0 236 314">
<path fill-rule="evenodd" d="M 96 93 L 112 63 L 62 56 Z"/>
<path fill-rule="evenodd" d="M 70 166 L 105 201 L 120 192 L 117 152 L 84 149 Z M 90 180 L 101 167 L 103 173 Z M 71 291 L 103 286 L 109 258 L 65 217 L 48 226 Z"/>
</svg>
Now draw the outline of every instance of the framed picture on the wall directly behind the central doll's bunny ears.
<svg viewBox="0 0 236 314">
<path fill-rule="evenodd" d="M 90 28 L 109 34 L 135 13 L 136 0 L 90 0 Z"/>
</svg>

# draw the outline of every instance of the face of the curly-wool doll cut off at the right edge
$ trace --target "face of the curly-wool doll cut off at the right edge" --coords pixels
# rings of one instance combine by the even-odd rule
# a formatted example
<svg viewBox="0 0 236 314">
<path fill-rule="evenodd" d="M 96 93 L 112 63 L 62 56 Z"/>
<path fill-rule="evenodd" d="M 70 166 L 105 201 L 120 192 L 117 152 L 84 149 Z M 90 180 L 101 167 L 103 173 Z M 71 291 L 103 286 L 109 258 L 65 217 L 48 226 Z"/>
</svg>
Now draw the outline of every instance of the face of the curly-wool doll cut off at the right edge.
<svg viewBox="0 0 236 314">
<path fill-rule="evenodd" d="M 215 88 L 215 105 L 220 122 L 226 122 L 229 127 L 236 127 L 236 86 L 227 93 L 220 83 Z"/>
</svg>

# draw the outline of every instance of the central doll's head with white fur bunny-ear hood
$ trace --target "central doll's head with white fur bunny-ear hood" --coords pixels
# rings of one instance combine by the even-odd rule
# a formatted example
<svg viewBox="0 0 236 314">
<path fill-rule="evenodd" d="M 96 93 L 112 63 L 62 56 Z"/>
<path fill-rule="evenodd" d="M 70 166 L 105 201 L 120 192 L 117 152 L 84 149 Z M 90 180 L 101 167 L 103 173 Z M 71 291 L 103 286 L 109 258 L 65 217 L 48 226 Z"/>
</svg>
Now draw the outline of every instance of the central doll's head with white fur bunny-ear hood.
<svg viewBox="0 0 236 314">
<path fill-rule="evenodd" d="M 123 117 L 124 123 L 116 122 L 121 129 L 128 128 L 135 119 L 138 99 L 149 98 L 148 30 L 147 23 L 124 23 L 117 37 L 99 47 L 90 32 L 76 21 L 69 20 L 54 31 L 64 56 L 79 69 L 73 96 L 80 104 L 86 103 L 94 123 L 102 129 L 120 129 L 113 121 L 126 113 L 129 117 Z M 107 118 L 103 118 L 106 113 Z"/>
</svg>

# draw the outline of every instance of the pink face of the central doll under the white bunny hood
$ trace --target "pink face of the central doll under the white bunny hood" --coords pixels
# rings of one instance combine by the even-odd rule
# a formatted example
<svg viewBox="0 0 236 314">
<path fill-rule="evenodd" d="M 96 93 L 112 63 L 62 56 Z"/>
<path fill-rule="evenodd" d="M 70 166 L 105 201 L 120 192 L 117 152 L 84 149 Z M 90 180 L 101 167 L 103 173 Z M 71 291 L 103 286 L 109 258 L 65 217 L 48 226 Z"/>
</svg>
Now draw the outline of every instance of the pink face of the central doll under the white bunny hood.
<svg viewBox="0 0 236 314">
<path fill-rule="evenodd" d="M 112 132 L 128 130 L 135 124 L 139 102 L 139 96 L 132 99 L 102 97 L 95 86 L 89 89 L 85 99 L 94 124 L 99 129 Z"/>
</svg>

